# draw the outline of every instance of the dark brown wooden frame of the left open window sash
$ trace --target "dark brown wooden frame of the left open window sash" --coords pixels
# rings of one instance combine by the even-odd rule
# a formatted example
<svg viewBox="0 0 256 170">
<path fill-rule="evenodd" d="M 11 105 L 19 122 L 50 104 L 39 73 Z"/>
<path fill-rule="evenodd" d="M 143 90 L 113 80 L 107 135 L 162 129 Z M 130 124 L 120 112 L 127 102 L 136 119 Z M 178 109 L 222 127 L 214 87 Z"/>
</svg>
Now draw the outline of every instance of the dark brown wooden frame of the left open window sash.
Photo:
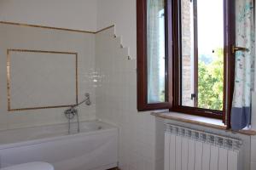
<svg viewBox="0 0 256 170">
<path fill-rule="evenodd" d="M 166 4 L 167 1 L 165 0 Z M 167 9 L 167 7 L 166 7 Z M 165 12 L 166 14 L 166 12 Z M 167 17 L 165 17 L 167 23 Z M 168 29 L 168 26 L 166 26 Z M 166 31 L 166 38 L 169 31 Z M 169 56 L 169 41 L 166 39 L 166 56 Z M 167 58 L 167 57 L 166 57 Z M 137 110 L 153 111 L 172 108 L 172 61 L 166 62 L 166 102 L 148 104 L 147 67 L 147 0 L 137 0 Z"/>
</svg>

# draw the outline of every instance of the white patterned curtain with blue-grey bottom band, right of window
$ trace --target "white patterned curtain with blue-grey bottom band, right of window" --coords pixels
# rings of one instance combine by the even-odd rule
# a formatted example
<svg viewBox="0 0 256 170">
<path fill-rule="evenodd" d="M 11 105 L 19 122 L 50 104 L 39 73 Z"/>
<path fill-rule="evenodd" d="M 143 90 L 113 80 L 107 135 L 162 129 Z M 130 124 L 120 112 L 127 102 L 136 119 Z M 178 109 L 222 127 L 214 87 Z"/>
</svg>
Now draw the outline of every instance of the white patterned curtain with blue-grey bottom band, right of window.
<svg viewBox="0 0 256 170">
<path fill-rule="evenodd" d="M 251 98 L 255 56 L 254 1 L 236 0 L 236 46 L 249 51 L 236 52 L 235 90 L 231 127 L 240 130 L 251 123 Z"/>
</svg>

